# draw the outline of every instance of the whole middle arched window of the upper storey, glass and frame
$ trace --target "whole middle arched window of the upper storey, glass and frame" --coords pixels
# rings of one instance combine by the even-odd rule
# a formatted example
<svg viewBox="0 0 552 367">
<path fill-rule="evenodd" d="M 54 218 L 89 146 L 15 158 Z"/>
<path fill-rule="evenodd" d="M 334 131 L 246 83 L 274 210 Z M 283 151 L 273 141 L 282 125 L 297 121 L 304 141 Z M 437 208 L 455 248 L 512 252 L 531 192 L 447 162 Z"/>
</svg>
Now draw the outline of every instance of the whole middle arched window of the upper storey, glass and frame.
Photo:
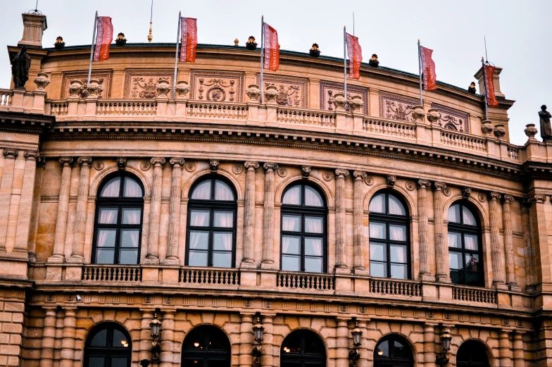
<svg viewBox="0 0 552 367">
<path fill-rule="evenodd" d="M 327 206 L 318 190 L 296 183 L 282 194 L 280 268 L 289 271 L 326 271 Z"/>
</svg>

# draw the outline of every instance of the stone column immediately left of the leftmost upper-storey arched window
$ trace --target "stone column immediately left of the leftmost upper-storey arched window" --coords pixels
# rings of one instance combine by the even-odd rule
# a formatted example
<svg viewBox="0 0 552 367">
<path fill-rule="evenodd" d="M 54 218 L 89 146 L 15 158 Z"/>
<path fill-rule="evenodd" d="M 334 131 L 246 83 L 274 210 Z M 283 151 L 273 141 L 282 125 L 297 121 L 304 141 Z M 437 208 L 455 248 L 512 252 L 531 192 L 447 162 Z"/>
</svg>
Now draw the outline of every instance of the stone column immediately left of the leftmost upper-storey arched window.
<svg viewBox="0 0 552 367">
<path fill-rule="evenodd" d="M 73 254 L 68 259 L 70 263 L 84 262 L 84 232 L 88 212 L 88 186 L 90 181 L 90 163 L 92 157 L 79 157 L 80 163 L 79 191 L 77 196 L 77 211 L 75 213 L 75 237 L 73 237 Z"/>
</svg>

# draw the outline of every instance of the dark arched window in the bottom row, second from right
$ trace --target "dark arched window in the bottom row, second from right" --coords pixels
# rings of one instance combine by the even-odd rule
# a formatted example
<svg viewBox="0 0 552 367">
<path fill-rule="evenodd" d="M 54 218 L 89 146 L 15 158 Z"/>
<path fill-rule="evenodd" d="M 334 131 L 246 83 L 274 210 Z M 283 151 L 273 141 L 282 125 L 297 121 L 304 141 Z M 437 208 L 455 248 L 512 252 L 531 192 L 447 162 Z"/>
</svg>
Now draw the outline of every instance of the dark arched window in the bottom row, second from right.
<svg viewBox="0 0 552 367">
<path fill-rule="evenodd" d="M 414 358 L 408 342 L 401 335 L 390 334 L 377 342 L 374 367 L 412 367 Z"/>
</svg>

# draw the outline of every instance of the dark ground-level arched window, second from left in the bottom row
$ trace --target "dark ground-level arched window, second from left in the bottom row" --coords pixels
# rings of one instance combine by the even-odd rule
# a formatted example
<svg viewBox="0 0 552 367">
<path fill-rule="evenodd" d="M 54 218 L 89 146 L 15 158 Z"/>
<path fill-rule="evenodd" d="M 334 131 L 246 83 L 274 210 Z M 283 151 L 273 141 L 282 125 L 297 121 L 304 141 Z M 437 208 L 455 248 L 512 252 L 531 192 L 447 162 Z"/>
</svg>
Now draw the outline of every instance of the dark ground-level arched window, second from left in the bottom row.
<svg viewBox="0 0 552 367">
<path fill-rule="evenodd" d="M 230 340 L 211 325 L 194 328 L 182 344 L 182 367 L 230 367 Z"/>
</svg>

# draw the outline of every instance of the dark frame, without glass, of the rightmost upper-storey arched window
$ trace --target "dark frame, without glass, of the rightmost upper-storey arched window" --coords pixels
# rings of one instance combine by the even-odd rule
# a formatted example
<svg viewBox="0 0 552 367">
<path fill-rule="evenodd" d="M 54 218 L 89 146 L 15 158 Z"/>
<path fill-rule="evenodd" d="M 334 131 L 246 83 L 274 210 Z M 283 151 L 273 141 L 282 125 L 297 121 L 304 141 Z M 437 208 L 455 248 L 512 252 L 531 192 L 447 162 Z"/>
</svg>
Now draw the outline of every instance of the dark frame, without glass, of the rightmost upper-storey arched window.
<svg viewBox="0 0 552 367">
<path fill-rule="evenodd" d="M 465 264 L 465 255 L 469 254 L 477 254 L 479 256 L 479 263 L 477 263 L 477 273 L 479 275 L 479 282 L 477 284 L 469 284 L 470 287 L 484 287 L 485 286 L 485 273 L 484 273 L 484 261 L 483 261 L 483 242 L 482 242 L 482 227 L 481 222 L 479 221 L 479 216 L 477 216 L 477 209 L 474 208 L 472 204 L 470 204 L 469 201 L 466 200 L 458 200 L 454 201 L 451 206 L 449 206 L 449 210 L 456 204 L 459 204 L 460 206 L 460 223 L 451 222 L 449 221 L 449 211 L 447 210 L 447 221 L 449 222 L 447 225 L 447 246 L 449 247 L 449 233 L 460 233 L 460 241 L 461 241 L 461 247 L 449 247 L 449 258 L 451 251 L 455 252 L 457 254 L 460 254 L 462 256 L 462 270 L 452 270 L 449 266 L 449 276 L 452 275 L 452 272 L 458 273 L 458 280 L 459 282 L 453 282 L 453 284 L 457 285 L 468 285 L 466 284 L 468 270 L 466 270 L 466 264 Z M 470 213 L 472 213 L 472 216 L 475 218 L 475 225 L 467 225 L 464 224 L 464 216 L 463 211 L 464 208 L 467 208 Z M 477 236 L 477 251 L 474 250 L 467 250 L 465 249 L 465 241 L 464 241 L 464 235 L 476 235 Z M 472 272 L 475 273 L 475 272 Z M 452 280 L 451 276 L 451 280 Z"/>
</svg>

